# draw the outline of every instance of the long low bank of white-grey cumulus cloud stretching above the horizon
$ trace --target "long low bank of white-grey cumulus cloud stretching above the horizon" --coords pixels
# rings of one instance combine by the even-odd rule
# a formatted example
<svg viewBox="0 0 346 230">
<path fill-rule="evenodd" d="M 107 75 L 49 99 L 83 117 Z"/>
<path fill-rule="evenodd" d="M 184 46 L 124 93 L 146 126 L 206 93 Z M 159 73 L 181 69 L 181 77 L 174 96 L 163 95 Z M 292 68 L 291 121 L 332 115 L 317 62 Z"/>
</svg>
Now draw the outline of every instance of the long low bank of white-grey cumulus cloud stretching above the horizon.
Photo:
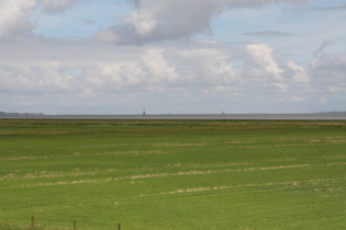
<svg viewBox="0 0 346 230">
<path fill-rule="evenodd" d="M 161 103 L 169 110 L 170 103 L 190 103 L 187 112 L 202 102 L 222 110 L 227 103 L 301 104 L 346 96 L 345 55 L 323 53 L 304 67 L 263 43 L 20 41 L 0 43 L 0 94 L 12 105 L 55 102 L 78 111 L 81 104 L 91 110 Z"/>
</svg>

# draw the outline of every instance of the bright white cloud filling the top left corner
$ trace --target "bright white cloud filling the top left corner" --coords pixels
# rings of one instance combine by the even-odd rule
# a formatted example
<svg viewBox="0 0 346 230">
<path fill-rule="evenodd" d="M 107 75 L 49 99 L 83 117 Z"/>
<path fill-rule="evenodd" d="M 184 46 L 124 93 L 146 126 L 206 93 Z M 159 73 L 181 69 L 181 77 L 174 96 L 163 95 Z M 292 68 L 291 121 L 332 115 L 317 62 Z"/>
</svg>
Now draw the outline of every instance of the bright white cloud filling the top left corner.
<svg viewBox="0 0 346 230">
<path fill-rule="evenodd" d="M 36 0 L 0 1 L 0 41 L 11 41 L 34 28 L 30 21 Z"/>
</svg>

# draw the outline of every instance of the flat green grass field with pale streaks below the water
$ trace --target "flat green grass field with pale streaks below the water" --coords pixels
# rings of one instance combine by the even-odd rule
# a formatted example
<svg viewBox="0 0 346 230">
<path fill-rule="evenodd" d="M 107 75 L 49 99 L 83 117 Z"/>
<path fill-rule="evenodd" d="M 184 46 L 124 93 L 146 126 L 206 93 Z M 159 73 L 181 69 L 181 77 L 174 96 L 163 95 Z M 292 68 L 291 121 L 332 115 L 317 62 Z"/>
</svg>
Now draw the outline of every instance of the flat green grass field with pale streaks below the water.
<svg viewBox="0 0 346 230">
<path fill-rule="evenodd" d="M 346 229 L 346 120 L 0 119 L 0 229 Z"/>
</svg>

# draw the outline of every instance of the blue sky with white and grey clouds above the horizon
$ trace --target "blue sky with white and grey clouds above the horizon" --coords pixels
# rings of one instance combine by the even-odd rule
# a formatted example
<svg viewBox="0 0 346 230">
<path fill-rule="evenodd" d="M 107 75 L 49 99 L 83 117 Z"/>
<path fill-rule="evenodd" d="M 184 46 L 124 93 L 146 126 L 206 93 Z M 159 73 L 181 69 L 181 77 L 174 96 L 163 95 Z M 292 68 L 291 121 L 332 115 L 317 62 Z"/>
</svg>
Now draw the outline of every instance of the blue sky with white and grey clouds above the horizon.
<svg viewBox="0 0 346 230">
<path fill-rule="evenodd" d="M 0 0 L 0 111 L 346 111 L 346 0 Z"/>
</svg>

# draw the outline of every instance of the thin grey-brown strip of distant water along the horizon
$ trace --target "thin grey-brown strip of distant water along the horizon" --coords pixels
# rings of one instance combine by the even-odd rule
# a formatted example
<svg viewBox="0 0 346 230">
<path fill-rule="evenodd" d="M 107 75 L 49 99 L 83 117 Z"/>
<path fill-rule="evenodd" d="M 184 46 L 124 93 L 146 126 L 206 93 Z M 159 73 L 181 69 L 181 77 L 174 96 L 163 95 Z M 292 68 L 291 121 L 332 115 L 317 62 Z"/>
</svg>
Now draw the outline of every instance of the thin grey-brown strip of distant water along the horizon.
<svg viewBox="0 0 346 230">
<path fill-rule="evenodd" d="M 25 115 L 0 116 L 0 118 L 34 119 L 346 119 L 346 113 L 325 114 L 153 114 L 153 115 Z"/>
</svg>

